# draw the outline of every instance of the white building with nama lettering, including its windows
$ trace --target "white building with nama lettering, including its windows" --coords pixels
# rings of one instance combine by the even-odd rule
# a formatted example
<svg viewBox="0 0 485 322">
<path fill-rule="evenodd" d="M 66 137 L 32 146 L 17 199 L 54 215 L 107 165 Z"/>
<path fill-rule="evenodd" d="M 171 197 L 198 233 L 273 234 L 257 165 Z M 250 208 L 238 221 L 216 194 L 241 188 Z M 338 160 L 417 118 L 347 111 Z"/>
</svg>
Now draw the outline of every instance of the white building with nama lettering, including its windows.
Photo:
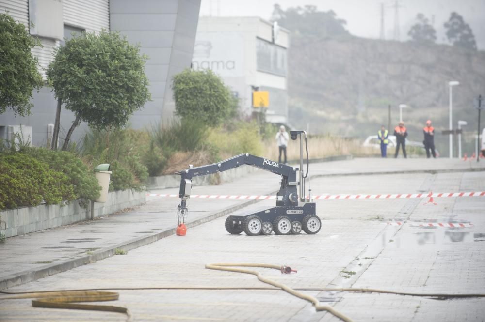
<svg viewBox="0 0 485 322">
<path fill-rule="evenodd" d="M 211 69 L 251 115 L 252 92 L 269 92 L 266 120 L 288 123 L 289 31 L 259 17 L 199 17 L 192 68 Z"/>
</svg>

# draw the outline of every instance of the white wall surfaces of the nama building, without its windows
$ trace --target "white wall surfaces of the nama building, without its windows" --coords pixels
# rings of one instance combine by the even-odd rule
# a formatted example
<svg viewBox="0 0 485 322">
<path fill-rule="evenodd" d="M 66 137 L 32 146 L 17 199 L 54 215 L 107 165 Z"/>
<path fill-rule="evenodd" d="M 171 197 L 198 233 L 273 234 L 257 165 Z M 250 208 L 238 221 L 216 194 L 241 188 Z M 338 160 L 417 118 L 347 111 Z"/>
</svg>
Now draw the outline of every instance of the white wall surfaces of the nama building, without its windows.
<svg viewBox="0 0 485 322">
<path fill-rule="evenodd" d="M 275 44 L 284 48 L 289 45 L 289 31 L 280 28 Z M 287 78 L 260 72 L 257 69 L 257 38 L 273 41 L 273 25 L 259 17 L 200 17 L 195 38 L 193 68 L 211 69 L 219 74 L 226 85 L 239 93 L 241 111 L 250 115 L 252 107 L 252 86 L 271 87 L 285 91 Z M 221 62 L 225 62 L 223 64 Z M 232 63 L 234 62 L 234 63 Z M 241 69 L 242 68 L 242 69 Z M 287 108 L 275 110 L 271 107 L 269 115 L 283 113 L 270 120 L 286 123 Z M 285 102 L 283 100 L 273 100 Z"/>
</svg>

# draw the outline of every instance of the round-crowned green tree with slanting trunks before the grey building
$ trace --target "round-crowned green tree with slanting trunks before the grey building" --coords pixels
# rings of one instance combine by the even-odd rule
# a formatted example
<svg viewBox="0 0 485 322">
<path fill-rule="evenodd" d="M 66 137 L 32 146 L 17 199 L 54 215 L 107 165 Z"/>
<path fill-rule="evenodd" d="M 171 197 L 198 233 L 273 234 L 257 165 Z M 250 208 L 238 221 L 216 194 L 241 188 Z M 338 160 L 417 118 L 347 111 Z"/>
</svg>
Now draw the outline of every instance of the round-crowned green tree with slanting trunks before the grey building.
<svg viewBox="0 0 485 322">
<path fill-rule="evenodd" d="M 52 147 L 57 147 L 63 103 L 76 116 L 63 150 L 81 121 L 95 129 L 124 126 L 150 100 L 146 59 L 118 32 L 82 33 L 57 49 L 47 70 L 57 98 Z"/>
</svg>

